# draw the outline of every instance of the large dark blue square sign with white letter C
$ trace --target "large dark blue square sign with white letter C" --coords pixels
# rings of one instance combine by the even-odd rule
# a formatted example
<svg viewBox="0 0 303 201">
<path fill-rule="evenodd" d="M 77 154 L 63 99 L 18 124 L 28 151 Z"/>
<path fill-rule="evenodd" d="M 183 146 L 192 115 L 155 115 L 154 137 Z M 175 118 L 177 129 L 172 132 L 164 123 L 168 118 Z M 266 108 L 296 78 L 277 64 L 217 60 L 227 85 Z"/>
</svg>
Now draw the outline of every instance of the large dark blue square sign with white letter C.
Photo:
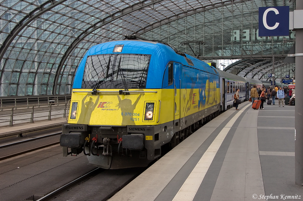
<svg viewBox="0 0 303 201">
<path fill-rule="evenodd" d="M 289 6 L 259 7 L 259 37 L 289 35 Z"/>
</svg>

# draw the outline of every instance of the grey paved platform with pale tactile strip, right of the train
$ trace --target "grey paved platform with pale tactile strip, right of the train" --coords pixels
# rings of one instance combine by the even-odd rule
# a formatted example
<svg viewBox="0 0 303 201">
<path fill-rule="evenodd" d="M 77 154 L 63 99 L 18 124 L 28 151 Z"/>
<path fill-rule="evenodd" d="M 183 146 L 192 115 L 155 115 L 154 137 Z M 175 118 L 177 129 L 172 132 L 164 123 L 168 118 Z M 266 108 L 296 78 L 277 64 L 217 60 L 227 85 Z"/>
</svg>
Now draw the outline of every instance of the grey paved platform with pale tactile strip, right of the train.
<svg viewBox="0 0 303 201">
<path fill-rule="evenodd" d="M 299 200 L 295 106 L 251 102 L 193 133 L 109 201 Z"/>
</svg>

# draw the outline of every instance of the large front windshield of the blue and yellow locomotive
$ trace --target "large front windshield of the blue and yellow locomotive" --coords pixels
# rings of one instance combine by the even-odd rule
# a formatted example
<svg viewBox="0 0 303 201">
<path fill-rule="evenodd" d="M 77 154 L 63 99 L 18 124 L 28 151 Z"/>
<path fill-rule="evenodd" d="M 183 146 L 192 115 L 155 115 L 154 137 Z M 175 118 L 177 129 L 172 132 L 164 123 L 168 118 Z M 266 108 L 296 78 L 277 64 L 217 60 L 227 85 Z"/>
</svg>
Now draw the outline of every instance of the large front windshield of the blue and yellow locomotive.
<svg viewBox="0 0 303 201">
<path fill-rule="evenodd" d="M 82 88 L 144 89 L 151 55 L 98 54 L 87 57 Z"/>
</svg>

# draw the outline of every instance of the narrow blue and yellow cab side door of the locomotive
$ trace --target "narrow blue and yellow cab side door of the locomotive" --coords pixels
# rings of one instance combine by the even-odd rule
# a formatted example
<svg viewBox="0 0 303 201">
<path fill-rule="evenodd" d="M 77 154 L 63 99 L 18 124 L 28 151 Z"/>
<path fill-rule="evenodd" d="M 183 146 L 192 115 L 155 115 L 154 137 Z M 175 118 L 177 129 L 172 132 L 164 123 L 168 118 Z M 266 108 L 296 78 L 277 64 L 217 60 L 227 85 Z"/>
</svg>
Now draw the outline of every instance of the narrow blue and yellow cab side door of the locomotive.
<svg viewBox="0 0 303 201">
<path fill-rule="evenodd" d="M 180 126 L 180 111 L 181 111 L 181 79 L 180 79 L 181 65 L 174 63 L 174 88 L 175 88 L 175 127 Z"/>
</svg>

